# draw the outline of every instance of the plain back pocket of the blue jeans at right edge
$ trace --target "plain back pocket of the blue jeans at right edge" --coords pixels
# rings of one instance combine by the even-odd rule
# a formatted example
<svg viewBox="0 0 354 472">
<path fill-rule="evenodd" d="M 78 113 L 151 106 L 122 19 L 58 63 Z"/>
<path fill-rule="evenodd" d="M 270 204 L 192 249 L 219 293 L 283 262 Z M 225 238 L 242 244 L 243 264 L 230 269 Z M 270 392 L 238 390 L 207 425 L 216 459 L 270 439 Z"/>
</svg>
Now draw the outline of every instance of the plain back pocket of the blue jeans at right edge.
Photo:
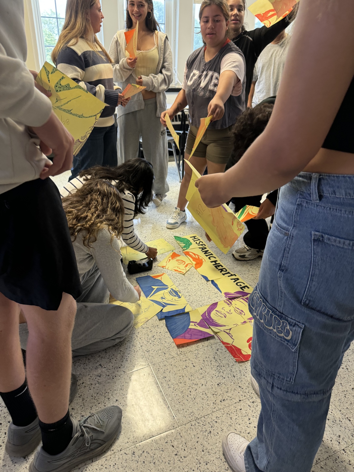
<svg viewBox="0 0 354 472">
<path fill-rule="evenodd" d="M 312 232 L 312 263 L 302 304 L 354 320 L 354 241 Z"/>
</svg>

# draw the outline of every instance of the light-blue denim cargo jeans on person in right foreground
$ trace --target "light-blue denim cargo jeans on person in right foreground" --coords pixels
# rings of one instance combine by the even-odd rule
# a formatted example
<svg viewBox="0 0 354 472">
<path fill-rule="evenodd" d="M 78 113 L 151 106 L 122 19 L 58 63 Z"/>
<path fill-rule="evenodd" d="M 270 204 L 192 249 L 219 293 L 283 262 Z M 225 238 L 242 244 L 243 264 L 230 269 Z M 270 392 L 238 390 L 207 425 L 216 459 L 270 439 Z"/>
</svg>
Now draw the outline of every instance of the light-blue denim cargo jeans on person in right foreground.
<svg viewBox="0 0 354 472">
<path fill-rule="evenodd" d="M 354 339 L 354 176 L 301 173 L 281 188 L 257 286 L 251 372 L 260 387 L 247 472 L 310 472 Z"/>
</svg>

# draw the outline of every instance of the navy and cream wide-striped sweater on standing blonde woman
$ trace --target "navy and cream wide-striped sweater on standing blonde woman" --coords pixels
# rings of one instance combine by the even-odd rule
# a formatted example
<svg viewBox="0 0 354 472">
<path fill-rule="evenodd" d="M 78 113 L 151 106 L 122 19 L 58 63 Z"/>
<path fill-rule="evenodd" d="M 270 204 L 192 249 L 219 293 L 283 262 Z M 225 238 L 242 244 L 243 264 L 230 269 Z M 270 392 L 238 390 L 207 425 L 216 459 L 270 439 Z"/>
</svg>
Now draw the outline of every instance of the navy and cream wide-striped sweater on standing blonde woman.
<svg viewBox="0 0 354 472">
<path fill-rule="evenodd" d="M 79 38 L 76 44 L 59 51 L 57 68 L 106 104 L 95 126 L 113 125 L 118 90 L 114 90 L 113 67 L 106 56 Z"/>
</svg>

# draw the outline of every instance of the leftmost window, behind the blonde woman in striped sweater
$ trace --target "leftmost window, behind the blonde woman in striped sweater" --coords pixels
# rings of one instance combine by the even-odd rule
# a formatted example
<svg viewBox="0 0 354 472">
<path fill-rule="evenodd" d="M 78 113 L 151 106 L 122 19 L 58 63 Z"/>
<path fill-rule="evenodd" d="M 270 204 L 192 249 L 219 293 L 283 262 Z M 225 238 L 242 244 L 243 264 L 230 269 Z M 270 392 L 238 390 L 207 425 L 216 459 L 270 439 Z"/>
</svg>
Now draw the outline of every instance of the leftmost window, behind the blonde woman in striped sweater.
<svg viewBox="0 0 354 472">
<path fill-rule="evenodd" d="M 52 64 L 51 51 L 53 51 L 64 25 L 67 0 L 39 0 L 38 3 L 41 12 L 45 57 Z"/>
</svg>

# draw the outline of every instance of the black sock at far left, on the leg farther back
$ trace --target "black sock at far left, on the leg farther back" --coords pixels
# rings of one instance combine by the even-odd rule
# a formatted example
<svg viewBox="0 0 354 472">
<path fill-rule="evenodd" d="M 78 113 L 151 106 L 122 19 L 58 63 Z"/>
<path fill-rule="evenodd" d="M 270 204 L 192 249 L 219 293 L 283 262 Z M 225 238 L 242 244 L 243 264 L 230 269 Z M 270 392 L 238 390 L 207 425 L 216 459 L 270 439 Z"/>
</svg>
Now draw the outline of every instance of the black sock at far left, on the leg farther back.
<svg viewBox="0 0 354 472">
<path fill-rule="evenodd" d="M 36 408 L 28 390 L 27 379 L 21 387 L 12 390 L 12 392 L 0 392 L 0 396 L 11 415 L 14 425 L 27 426 L 37 418 Z"/>
</svg>

